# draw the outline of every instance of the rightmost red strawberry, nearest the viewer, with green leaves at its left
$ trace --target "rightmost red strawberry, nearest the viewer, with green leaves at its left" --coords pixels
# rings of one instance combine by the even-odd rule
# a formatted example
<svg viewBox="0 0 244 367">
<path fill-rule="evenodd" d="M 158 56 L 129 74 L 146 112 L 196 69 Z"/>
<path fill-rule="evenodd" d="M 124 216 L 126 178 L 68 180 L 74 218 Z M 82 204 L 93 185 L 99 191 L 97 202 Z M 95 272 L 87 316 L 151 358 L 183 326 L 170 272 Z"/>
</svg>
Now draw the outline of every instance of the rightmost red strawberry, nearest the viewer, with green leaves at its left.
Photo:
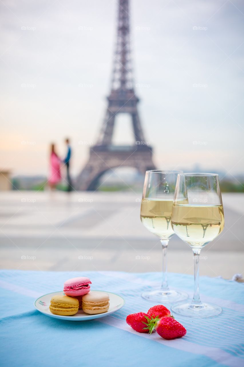
<svg viewBox="0 0 244 367">
<path fill-rule="evenodd" d="M 155 330 L 164 339 L 181 338 L 186 334 L 184 326 L 169 316 L 157 321 Z"/>
</svg>

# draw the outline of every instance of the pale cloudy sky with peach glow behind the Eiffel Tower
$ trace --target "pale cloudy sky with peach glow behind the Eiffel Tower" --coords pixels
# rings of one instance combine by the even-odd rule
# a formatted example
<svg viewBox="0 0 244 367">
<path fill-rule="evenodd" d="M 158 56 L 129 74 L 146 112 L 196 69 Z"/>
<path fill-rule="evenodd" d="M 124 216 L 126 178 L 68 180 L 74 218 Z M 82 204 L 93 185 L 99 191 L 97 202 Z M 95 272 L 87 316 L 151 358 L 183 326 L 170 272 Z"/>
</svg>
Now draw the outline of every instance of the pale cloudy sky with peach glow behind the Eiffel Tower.
<svg viewBox="0 0 244 367">
<path fill-rule="evenodd" d="M 96 143 L 110 92 L 115 0 L 3 0 L 0 169 L 48 174 L 70 137 L 72 173 Z M 161 169 L 244 164 L 244 3 L 131 0 L 131 46 L 145 140 Z M 119 115 L 114 143 L 133 143 Z"/>
</svg>

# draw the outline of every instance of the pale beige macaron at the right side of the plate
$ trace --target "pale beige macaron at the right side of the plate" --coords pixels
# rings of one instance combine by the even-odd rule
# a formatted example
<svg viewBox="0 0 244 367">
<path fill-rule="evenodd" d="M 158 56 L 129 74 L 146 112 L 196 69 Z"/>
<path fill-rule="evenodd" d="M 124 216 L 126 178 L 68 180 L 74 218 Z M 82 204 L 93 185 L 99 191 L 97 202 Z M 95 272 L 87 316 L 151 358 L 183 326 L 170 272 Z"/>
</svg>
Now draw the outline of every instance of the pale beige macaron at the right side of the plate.
<svg viewBox="0 0 244 367">
<path fill-rule="evenodd" d="M 104 313 L 109 309 L 109 295 L 104 292 L 91 291 L 82 297 L 82 309 L 85 313 L 94 315 Z"/>
</svg>

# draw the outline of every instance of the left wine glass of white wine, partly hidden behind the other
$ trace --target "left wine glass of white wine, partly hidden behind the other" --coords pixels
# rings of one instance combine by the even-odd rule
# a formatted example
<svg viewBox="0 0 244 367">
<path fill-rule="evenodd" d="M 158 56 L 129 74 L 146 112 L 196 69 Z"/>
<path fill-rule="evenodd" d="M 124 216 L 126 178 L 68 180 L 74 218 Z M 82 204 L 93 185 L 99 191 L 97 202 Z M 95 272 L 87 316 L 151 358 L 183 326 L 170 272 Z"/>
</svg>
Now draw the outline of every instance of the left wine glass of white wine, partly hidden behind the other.
<svg viewBox="0 0 244 367">
<path fill-rule="evenodd" d="M 188 298 L 188 294 L 170 289 L 167 283 L 167 247 L 174 235 L 171 227 L 171 212 L 175 184 L 182 171 L 146 171 L 143 197 L 141 200 L 141 222 L 154 235 L 160 238 L 163 248 L 163 280 L 159 289 L 145 291 L 142 297 L 149 301 L 178 302 Z"/>
</svg>

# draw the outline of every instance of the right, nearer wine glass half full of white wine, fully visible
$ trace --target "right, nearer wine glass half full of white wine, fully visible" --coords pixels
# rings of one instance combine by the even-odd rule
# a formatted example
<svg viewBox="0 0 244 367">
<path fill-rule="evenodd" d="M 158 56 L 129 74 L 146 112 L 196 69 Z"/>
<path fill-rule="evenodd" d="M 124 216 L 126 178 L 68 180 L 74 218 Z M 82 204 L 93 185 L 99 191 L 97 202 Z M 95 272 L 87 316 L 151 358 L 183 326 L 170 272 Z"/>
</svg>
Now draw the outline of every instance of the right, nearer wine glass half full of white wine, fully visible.
<svg viewBox="0 0 244 367">
<path fill-rule="evenodd" d="M 203 303 L 199 295 L 200 251 L 214 240 L 224 227 L 224 214 L 219 178 L 212 173 L 180 173 L 177 178 L 171 216 L 174 232 L 193 250 L 194 295 L 191 302 L 172 306 L 178 315 L 211 317 L 221 307 Z"/>
</svg>

